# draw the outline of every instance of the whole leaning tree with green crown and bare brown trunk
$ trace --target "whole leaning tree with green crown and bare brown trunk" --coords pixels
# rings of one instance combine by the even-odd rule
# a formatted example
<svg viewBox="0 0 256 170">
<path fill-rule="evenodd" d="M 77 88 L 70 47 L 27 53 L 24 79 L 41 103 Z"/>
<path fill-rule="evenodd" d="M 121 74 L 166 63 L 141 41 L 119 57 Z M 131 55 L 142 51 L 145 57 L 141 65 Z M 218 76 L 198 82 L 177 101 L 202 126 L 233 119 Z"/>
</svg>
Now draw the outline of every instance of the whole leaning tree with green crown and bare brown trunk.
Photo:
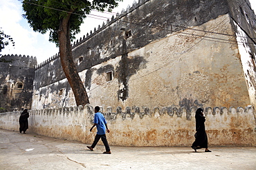
<svg viewBox="0 0 256 170">
<path fill-rule="evenodd" d="M 111 11 L 122 0 L 24 0 L 24 18 L 35 32 L 50 31 L 49 41 L 60 47 L 62 69 L 73 90 L 75 102 L 86 105 L 89 98 L 75 67 L 71 41 L 80 32 L 80 25 L 91 10 Z"/>
</svg>

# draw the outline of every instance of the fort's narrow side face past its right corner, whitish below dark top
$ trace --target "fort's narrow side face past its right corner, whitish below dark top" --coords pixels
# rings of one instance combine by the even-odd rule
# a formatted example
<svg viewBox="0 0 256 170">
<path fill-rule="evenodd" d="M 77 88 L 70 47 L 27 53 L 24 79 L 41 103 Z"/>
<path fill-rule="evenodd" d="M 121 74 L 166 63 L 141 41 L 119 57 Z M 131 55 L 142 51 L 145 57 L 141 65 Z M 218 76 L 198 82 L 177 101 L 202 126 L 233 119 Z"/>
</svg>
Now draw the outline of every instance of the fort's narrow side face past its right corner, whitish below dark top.
<svg viewBox="0 0 256 170">
<path fill-rule="evenodd" d="M 256 107 L 256 15 L 248 0 L 228 3 L 248 94 L 253 107 Z"/>
</svg>

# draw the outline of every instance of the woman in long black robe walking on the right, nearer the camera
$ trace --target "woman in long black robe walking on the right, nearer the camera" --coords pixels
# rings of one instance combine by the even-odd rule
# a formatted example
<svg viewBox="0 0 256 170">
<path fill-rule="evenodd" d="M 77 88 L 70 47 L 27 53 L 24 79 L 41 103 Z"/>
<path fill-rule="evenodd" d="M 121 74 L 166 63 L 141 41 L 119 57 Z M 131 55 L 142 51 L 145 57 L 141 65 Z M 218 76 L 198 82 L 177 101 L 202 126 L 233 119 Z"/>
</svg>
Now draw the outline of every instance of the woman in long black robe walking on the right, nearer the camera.
<svg viewBox="0 0 256 170">
<path fill-rule="evenodd" d="M 208 138 L 205 132 L 205 117 L 203 116 L 203 109 L 199 108 L 196 110 L 196 134 L 192 144 L 192 149 L 196 151 L 196 149 L 205 148 L 205 152 L 211 152 L 208 149 Z"/>
</svg>

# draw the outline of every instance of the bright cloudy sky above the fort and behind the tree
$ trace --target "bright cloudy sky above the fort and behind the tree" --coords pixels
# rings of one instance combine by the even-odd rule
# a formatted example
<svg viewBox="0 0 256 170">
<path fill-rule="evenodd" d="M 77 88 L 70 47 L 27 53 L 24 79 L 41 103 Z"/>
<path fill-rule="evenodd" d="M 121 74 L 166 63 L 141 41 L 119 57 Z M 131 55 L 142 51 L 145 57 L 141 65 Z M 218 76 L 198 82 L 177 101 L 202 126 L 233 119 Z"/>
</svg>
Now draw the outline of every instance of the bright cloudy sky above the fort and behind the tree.
<svg viewBox="0 0 256 170">
<path fill-rule="evenodd" d="M 113 9 L 113 14 L 102 14 L 101 12 L 92 12 L 80 27 L 80 34 L 76 35 L 76 39 L 86 35 L 94 28 L 98 29 L 98 25 L 107 23 L 107 19 L 102 17 L 95 17 L 100 15 L 111 19 L 112 15 L 122 12 L 122 9 L 127 9 L 127 6 L 132 6 L 138 0 L 123 0 L 119 3 L 118 8 Z M 250 4 L 256 13 L 256 0 L 250 0 Z M 22 17 L 24 11 L 19 0 L 0 0 L 0 28 L 5 34 L 8 34 L 15 41 L 15 46 L 7 45 L 2 50 L 1 54 L 21 54 L 22 56 L 36 56 L 37 64 L 46 61 L 59 52 L 55 43 L 48 41 L 49 35 L 34 32 L 27 20 Z"/>
</svg>

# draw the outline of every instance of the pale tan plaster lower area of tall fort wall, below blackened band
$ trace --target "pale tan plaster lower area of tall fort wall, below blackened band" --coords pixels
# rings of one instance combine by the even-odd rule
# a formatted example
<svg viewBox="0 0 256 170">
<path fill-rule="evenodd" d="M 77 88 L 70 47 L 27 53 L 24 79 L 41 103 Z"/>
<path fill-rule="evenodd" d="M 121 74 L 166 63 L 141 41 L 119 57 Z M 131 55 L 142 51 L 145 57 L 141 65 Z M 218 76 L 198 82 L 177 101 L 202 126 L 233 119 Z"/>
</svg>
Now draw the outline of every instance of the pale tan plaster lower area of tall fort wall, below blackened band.
<svg viewBox="0 0 256 170">
<path fill-rule="evenodd" d="M 175 32 L 81 71 L 91 105 L 187 109 L 252 105 L 229 14 L 193 29 L 208 32 L 196 36 L 192 29 Z M 112 72 L 113 80 L 107 81 L 107 72 Z M 63 89 L 62 95 L 57 88 Z M 33 108 L 75 105 L 66 79 L 39 87 L 36 93 L 42 97 L 34 95 Z"/>
</svg>

